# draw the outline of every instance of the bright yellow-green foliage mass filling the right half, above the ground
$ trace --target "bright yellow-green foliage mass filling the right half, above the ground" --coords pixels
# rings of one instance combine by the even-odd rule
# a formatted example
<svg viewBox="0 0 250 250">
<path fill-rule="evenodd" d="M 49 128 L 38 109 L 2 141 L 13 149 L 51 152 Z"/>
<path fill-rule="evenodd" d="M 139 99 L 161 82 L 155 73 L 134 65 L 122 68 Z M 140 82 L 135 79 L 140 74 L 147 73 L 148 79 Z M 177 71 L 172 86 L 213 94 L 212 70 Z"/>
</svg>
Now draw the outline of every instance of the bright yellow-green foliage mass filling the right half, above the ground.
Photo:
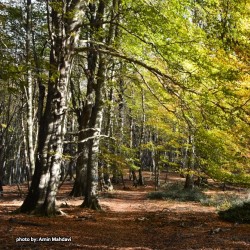
<svg viewBox="0 0 250 250">
<path fill-rule="evenodd" d="M 124 17 L 121 50 L 157 65 L 174 79 L 162 79 L 138 65 L 140 74 L 129 71 L 133 96 L 139 96 L 140 88 L 145 93 L 144 125 L 157 134 L 157 141 L 146 141 L 141 149 L 160 155 L 159 164 L 178 167 L 180 162 L 187 165 L 185 152 L 193 147 L 194 172 L 249 185 L 248 65 L 235 50 L 243 44 L 249 49 L 249 4 L 126 1 L 124 5 L 130 12 Z M 140 98 L 128 99 L 127 104 L 140 126 Z M 190 135 L 192 144 L 187 142 Z"/>
</svg>

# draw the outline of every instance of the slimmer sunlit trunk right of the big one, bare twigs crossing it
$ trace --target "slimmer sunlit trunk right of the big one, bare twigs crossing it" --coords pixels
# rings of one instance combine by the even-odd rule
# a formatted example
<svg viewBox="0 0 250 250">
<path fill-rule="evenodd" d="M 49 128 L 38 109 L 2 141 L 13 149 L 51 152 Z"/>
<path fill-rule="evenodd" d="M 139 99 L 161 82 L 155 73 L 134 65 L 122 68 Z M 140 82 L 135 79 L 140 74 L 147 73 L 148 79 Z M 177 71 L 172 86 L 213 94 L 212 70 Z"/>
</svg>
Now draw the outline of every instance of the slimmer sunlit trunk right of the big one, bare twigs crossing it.
<svg viewBox="0 0 250 250">
<path fill-rule="evenodd" d="M 102 28 L 104 18 L 105 1 L 99 1 L 99 5 L 89 4 L 89 15 L 92 32 L 90 39 L 95 36 L 103 40 L 102 35 L 98 34 Z M 99 210 L 101 209 L 98 201 L 98 153 L 100 143 L 100 133 L 103 116 L 103 87 L 106 77 L 106 61 L 101 53 L 97 53 L 93 44 L 90 44 L 88 52 L 88 85 L 87 85 L 87 100 L 92 106 L 91 116 L 88 122 L 88 162 L 87 162 L 87 186 L 85 191 L 83 207 Z M 97 72 L 96 72 L 97 71 Z"/>
</svg>

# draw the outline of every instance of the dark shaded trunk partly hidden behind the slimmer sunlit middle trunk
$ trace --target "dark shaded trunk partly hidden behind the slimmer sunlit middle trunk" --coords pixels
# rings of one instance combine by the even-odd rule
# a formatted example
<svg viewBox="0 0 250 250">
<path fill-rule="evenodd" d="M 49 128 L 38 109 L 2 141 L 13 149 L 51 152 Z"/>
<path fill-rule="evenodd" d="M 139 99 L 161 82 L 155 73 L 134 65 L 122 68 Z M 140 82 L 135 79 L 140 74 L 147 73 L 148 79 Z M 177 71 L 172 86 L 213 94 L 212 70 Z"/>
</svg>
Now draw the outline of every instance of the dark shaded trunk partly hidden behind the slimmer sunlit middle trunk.
<svg viewBox="0 0 250 250">
<path fill-rule="evenodd" d="M 102 27 L 101 22 L 104 13 L 104 1 L 100 1 L 99 6 L 95 3 L 89 3 L 88 5 L 88 16 L 90 21 L 90 29 L 87 34 L 88 39 L 94 39 L 95 33 L 99 31 Z M 86 98 L 83 102 L 81 110 L 78 110 L 78 124 L 79 124 L 79 145 L 78 145 L 78 161 L 77 161 L 77 172 L 76 172 L 76 181 L 74 188 L 71 192 L 72 195 L 78 196 L 82 193 L 88 193 L 87 189 L 90 189 L 89 181 L 86 181 L 86 178 L 89 178 L 90 172 L 88 170 L 89 157 L 91 156 L 91 144 L 88 142 L 88 137 L 91 137 L 95 132 L 95 128 L 91 125 L 91 119 L 93 119 L 93 109 L 96 105 L 96 68 L 98 63 L 98 53 L 95 50 L 95 47 L 92 43 L 88 45 L 87 52 L 87 65 L 88 69 L 85 70 L 85 75 L 87 78 L 87 93 Z M 95 126 L 95 123 L 94 123 Z M 82 142 L 84 141 L 84 142 Z M 98 174 L 97 174 L 98 175 Z M 86 178 L 85 178 L 86 177 Z M 88 205 L 86 205 L 88 206 Z"/>
</svg>

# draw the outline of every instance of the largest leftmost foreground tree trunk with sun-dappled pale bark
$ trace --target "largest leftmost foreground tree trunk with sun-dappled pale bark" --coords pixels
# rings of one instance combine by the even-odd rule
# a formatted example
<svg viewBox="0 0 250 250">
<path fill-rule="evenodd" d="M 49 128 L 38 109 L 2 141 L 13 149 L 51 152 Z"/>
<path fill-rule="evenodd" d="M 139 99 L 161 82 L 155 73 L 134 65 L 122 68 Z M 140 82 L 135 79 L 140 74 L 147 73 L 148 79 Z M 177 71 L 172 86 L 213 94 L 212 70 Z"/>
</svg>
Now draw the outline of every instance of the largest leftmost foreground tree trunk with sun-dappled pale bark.
<svg viewBox="0 0 250 250">
<path fill-rule="evenodd" d="M 51 13 L 48 13 L 48 18 L 51 18 L 48 93 L 39 124 L 35 172 L 20 212 L 46 216 L 53 216 L 58 212 L 55 201 L 63 155 L 68 82 L 74 47 L 78 40 L 76 16 L 82 9 L 82 1 L 74 1 L 71 4 L 70 2 L 66 1 L 62 10 L 52 9 Z M 66 9 L 70 11 L 70 15 L 62 13 L 66 12 Z"/>
</svg>

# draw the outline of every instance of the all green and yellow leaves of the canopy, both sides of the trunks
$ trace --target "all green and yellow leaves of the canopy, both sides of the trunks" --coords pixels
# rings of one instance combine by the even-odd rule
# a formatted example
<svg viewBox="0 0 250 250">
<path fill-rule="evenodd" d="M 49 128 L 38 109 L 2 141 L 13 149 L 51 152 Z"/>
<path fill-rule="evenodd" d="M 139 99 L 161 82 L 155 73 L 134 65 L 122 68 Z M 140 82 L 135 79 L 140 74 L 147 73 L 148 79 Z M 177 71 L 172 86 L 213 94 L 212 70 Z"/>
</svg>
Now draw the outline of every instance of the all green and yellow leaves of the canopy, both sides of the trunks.
<svg viewBox="0 0 250 250">
<path fill-rule="evenodd" d="M 85 20 L 81 38 L 98 42 L 93 45 L 96 50 L 106 50 L 103 54 L 107 63 L 106 110 L 102 133 L 109 130 L 119 141 L 113 145 L 104 139 L 109 148 L 101 147 L 100 159 L 117 169 L 138 170 L 141 151 L 149 152 L 148 155 L 153 152 L 159 168 L 178 169 L 183 165 L 184 173 L 204 172 L 220 181 L 249 186 L 250 4 L 243 0 L 118 2 L 115 8 L 112 1 L 105 2 L 105 25 L 98 23 L 98 31 L 92 32 L 93 27 L 89 26 L 91 15 L 87 5 L 81 16 Z M 96 6 L 93 8 L 95 12 L 101 2 L 91 3 Z M 36 103 L 39 100 L 37 83 L 55 82 L 59 75 L 58 68 L 49 64 L 46 4 L 32 4 L 34 41 L 29 63 L 36 110 L 43 106 Z M 68 8 L 60 1 L 50 1 L 49 6 L 61 16 L 62 25 L 64 20 L 82 10 L 65 12 Z M 25 17 L 22 3 L 10 1 L 8 5 L 1 5 L 0 94 L 15 96 L 24 102 L 23 107 L 26 106 L 23 94 L 27 72 Z M 108 44 L 105 41 L 109 41 Z M 75 110 L 81 109 L 86 102 L 88 48 L 90 44 L 86 53 L 75 55 L 69 76 L 72 82 L 69 102 Z M 112 57 L 111 52 L 126 55 L 128 59 Z M 136 60 L 142 63 L 137 64 Z M 150 67 L 160 73 L 150 71 Z M 119 88 L 120 82 L 124 84 L 124 93 Z M 47 90 L 46 84 L 44 86 Z M 112 97 L 109 97 L 111 89 Z M 121 94 L 124 99 L 122 129 L 119 121 Z M 7 102 L 2 105 L 7 106 Z M 4 112 L 8 114 L 5 109 Z M 142 128 L 144 138 L 140 138 Z M 193 142 L 188 141 L 190 136 Z M 132 145 L 134 141 L 136 143 Z M 187 151 L 192 148 L 194 169 L 190 171 Z"/>
</svg>

